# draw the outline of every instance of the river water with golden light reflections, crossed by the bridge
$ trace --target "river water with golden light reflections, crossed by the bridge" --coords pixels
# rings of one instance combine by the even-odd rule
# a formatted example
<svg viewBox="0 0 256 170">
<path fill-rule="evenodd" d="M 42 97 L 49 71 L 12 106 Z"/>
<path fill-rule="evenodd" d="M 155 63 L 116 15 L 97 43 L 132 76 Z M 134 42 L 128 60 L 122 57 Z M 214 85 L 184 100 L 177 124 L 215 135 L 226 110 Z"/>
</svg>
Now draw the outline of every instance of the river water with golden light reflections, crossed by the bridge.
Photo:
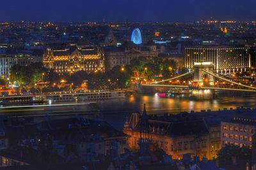
<svg viewBox="0 0 256 170">
<path fill-rule="evenodd" d="M 40 115 L 54 114 L 52 118 L 60 118 L 60 114 L 83 114 L 84 117 L 106 120 L 113 127 L 122 130 L 126 118 L 132 112 L 141 112 L 146 104 L 148 114 L 177 114 L 181 111 L 201 111 L 206 109 L 218 110 L 223 108 L 256 107 L 256 95 L 222 94 L 214 100 L 190 100 L 188 96 L 174 95 L 170 98 L 161 98 L 156 95 L 132 95 L 126 98 L 102 100 L 92 105 L 49 105 L 46 107 L 17 107 L 12 109 L 0 108 L 0 114 L 7 115 Z M 61 116 L 62 118 L 68 116 Z M 70 117 L 70 115 L 69 115 Z M 38 120 L 45 119 L 39 116 Z"/>
</svg>

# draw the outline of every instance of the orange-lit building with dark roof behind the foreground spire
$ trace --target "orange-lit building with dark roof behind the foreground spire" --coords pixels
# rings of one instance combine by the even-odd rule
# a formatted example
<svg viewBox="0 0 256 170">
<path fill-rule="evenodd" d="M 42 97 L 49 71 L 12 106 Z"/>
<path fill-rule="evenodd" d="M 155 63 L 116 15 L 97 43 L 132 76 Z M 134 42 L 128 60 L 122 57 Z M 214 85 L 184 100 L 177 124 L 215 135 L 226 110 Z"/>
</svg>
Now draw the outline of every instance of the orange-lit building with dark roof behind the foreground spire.
<svg viewBox="0 0 256 170">
<path fill-rule="evenodd" d="M 140 149 L 141 119 L 143 114 L 133 113 L 124 125 L 124 133 L 129 135 L 128 145 L 132 150 Z M 170 121 L 166 117 L 148 117 L 150 143 L 156 144 L 173 158 L 191 157 L 211 158 L 209 130 L 204 120 Z"/>
</svg>

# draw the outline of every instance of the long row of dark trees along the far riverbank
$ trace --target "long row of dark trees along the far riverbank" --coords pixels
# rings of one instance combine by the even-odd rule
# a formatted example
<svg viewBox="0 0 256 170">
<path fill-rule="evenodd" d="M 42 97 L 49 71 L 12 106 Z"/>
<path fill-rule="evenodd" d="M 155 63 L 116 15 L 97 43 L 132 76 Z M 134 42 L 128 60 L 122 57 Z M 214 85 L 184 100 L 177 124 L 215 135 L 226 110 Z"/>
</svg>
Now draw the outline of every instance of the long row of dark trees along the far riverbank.
<svg viewBox="0 0 256 170">
<path fill-rule="evenodd" d="M 79 71 L 76 73 L 56 73 L 54 70 L 48 70 L 42 63 L 33 63 L 28 66 L 14 65 L 11 68 L 10 81 L 14 84 L 34 84 L 35 82 L 49 81 L 51 90 L 58 91 L 58 84 L 65 80 L 72 84 L 72 88 L 81 86 L 86 81 L 88 89 L 125 89 L 131 86 L 131 77 L 134 73 L 143 75 L 148 79 L 155 77 L 167 78 L 174 76 L 177 71 L 177 63 L 174 60 L 163 58 L 147 59 L 140 57 L 131 61 L 131 65 L 115 66 L 109 72 L 88 73 Z M 4 82 L 0 79 L 0 84 Z"/>
</svg>

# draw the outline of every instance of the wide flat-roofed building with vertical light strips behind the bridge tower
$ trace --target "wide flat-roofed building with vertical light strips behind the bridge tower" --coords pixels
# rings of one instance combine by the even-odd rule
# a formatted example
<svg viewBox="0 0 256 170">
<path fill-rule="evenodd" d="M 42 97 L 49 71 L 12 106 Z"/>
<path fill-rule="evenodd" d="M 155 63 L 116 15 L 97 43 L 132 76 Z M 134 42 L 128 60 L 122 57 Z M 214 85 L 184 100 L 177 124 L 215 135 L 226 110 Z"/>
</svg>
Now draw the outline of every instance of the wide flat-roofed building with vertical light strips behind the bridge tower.
<svg viewBox="0 0 256 170">
<path fill-rule="evenodd" d="M 243 72 L 251 68 L 248 47 L 196 47 L 185 49 L 185 67 L 193 69 L 195 62 L 209 61 L 218 73 Z"/>
</svg>

